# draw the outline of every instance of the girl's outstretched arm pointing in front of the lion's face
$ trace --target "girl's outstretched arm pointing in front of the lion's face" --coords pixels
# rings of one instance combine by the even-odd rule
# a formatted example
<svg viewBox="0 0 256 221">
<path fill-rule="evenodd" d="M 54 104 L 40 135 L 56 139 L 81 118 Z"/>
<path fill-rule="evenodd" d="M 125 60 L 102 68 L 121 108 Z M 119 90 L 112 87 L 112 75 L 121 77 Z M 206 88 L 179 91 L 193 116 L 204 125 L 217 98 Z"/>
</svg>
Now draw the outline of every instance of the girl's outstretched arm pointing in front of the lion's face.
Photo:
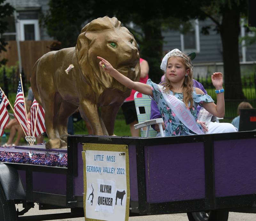
<svg viewBox="0 0 256 221">
<path fill-rule="evenodd" d="M 132 81 L 130 78 L 125 77 L 123 74 L 118 72 L 112 65 L 102 57 L 97 56 L 100 59 L 100 67 L 104 69 L 110 76 L 115 78 L 121 84 L 126 86 L 127 88 L 134 89 L 139 91 L 142 94 L 153 96 L 152 89 L 149 85 Z"/>
</svg>

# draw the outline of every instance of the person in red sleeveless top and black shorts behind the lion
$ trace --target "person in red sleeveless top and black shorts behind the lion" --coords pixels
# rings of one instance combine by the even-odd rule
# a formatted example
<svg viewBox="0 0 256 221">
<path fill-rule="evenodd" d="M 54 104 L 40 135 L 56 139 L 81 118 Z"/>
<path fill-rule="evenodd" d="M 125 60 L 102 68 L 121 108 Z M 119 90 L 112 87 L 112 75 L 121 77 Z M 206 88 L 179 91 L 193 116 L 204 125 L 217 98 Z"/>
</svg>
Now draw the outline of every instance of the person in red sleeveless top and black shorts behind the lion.
<svg viewBox="0 0 256 221">
<path fill-rule="evenodd" d="M 138 49 L 139 49 L 139 46 L 138 46 Z M 141 83 L 144 83 L 144 84 L 147 83 L 148 72 L 149 72 L 148 62 L 140 58 L 140 82 Z M 121 106 L 124 113 L 126 125 L 130 126 L 132 137 L 139 136 L 139 130 L 135 130 L 134 128 L 134 124 L 138 124 L 138 117 L 137 117 L 137 112 L 136 112 L 135 103 L 134 103 L 135 92 L 136 92 L 135 90 L 132 90 L 131 95 L 125 99 L 123 105 Z M 142 95 L 138 94 L 137 97 L 142 97 Z"/>
</svg>

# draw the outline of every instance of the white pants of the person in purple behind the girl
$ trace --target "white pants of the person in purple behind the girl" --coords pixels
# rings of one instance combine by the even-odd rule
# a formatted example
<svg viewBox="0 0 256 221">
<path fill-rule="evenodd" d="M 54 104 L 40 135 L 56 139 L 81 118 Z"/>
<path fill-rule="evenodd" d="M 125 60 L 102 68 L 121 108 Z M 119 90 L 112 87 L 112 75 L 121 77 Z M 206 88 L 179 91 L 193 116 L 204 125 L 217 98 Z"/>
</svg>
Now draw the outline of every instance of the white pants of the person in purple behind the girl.
<svg viewBox="0 0 256 221">
<path fill-rule="evenodd" d="M 209 133 L 231 133 L 237 132 L 238 129 L 234 127 L 230 123 L 217 123 L 217 122 L 210 122 L 208 125 L 208 131 L 205 134 Z M 164 133 L 165 135 L 165 133 Z M 156 137 L 161 137 L 160 132 L 157 133 Z"/>
</svg>

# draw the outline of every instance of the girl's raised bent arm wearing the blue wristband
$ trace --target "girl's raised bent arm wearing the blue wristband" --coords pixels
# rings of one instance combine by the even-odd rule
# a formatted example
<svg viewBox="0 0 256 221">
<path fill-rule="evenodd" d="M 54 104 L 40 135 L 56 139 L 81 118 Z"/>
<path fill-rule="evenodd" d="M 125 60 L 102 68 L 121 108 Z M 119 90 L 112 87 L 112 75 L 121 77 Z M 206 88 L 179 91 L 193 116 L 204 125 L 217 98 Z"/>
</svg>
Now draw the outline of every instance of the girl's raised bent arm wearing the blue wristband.
<svg viewBox="0 0 256 221">
<path fill-rule="evenodd" d="M 212 84 L 216 88 L 216 90 L 222 89 L 223 84 L 223 78 L 221 72 L 215 72 L 212 74 Z M 203 91 L 199 88 L 196 88 L 197 94 L 203 94 Z M 224 94 L 218 93 L 217 94 L 217 105 L 215 103 L 206 103 L 203 102 L 202 106 L 205 110 L 213 114 L 214 116 L 218 118 L 223 118 L 225 115 L 225 100 L 224 100 Z"/>
</svg>

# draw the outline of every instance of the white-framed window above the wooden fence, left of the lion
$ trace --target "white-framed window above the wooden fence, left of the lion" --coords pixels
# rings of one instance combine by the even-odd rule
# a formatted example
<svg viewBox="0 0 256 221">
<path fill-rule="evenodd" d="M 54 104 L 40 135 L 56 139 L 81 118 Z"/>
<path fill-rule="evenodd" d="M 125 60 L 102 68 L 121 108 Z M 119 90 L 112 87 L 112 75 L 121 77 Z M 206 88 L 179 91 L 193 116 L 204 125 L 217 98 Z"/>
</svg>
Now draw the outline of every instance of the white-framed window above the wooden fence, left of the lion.
<svg viewBox="0 0 256 221">
<path fill-rule="evenodd" d="M 20 41 L 28 40 L 40 40 L 37 19 L 20 20 Z"/>
</svg>

